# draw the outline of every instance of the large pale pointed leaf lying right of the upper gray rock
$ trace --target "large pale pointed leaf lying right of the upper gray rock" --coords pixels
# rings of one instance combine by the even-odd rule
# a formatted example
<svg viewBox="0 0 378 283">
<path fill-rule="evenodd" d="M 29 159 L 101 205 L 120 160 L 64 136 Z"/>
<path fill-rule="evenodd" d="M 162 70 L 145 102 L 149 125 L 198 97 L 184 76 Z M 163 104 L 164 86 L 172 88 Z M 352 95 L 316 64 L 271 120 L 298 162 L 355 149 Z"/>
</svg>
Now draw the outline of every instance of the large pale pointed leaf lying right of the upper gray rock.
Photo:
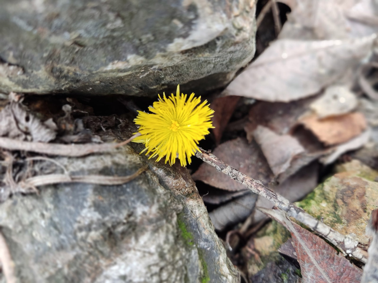
<svg viewBox="0 0 378 283">
<path fill-rule="evenodd" d="M 369 53 L 374 39 L 277 40 L 228 85 L 225 93 L 272 102 L 308 97 L 355 67 Z"/>
</svg>

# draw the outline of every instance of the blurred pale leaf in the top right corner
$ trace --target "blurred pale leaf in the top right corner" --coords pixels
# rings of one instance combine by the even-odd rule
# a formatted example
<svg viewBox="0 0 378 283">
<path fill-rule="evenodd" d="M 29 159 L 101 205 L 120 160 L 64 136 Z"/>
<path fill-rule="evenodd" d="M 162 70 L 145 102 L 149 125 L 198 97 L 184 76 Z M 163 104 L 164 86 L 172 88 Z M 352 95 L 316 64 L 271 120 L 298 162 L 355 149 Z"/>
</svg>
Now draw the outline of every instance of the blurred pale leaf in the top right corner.
<svg viewBox="0 0 378 283">
<path fill-rule="evenodd" d="M 301 0 L 279 38 L 343 39 L 377 31 L 372 0 Z"/>
</svg>

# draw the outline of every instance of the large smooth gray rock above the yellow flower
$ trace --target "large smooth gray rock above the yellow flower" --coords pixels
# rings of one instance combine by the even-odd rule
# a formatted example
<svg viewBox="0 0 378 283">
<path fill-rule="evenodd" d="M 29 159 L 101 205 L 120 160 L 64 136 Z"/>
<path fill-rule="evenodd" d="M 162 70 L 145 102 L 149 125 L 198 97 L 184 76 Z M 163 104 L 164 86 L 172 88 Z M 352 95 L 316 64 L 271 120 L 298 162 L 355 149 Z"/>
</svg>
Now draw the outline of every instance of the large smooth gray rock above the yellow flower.
<svg viewBox="0 0 378 283">
<path fill-rule="evenodd" d="M 156 95 L 225 86 L 255 52 L 256 1 L 0 0 L 0 92 Z"/>
</svg>

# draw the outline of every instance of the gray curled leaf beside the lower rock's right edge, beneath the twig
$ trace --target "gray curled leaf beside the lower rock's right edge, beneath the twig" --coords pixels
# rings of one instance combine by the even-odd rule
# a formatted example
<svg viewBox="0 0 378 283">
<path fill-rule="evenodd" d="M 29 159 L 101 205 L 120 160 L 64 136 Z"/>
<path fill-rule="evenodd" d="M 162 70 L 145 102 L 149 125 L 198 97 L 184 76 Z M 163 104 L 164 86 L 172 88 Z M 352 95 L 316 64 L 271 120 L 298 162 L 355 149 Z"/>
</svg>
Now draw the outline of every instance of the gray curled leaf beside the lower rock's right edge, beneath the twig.
<svg viewBox="0 0 378 283">
<path fill-rule="evenodd" d="M 228 225 L 248 217 L 255 207 L 256 200 L 257 194 L 249 192 L 209 212 L 215 230 L 223 230 Z"/>
</svg>

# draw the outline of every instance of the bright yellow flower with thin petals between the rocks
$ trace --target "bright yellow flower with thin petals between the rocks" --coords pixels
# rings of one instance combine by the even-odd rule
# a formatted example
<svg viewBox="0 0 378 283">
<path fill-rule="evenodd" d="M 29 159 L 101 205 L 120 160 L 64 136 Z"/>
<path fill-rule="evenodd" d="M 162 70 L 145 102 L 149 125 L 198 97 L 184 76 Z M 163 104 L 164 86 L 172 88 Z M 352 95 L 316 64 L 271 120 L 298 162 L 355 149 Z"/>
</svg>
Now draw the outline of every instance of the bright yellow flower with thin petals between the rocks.
<svg viewBox="0 0 378 283">
<path fill-rule="evenodd" d="M 186 166 L 186 158 L 190 164 L 191 156 L 199 150 L 198 141 L 214 128 L 210 120 L 214 111 L 206 105 L 207 100 L 201 103 L 201 97 L 194 97 L 194 93 L 186 100 L 187 94 L 180 95 L 180 85 L 176 96 L 172 93 L 167 98 L 164 92 L 163 99 L 158 96 L 159 100 L 148 108 L 152 113 L 138 111 L 134 122 L 140 125 L 141 135 L 133 141 L 144 143 L 142 152 L 152 152 L 149 158 L 157 156 L 156 162 L 165 156 L 165 163 L 173 165 L 178 155 L 181 166 Z"/>
</svg>

